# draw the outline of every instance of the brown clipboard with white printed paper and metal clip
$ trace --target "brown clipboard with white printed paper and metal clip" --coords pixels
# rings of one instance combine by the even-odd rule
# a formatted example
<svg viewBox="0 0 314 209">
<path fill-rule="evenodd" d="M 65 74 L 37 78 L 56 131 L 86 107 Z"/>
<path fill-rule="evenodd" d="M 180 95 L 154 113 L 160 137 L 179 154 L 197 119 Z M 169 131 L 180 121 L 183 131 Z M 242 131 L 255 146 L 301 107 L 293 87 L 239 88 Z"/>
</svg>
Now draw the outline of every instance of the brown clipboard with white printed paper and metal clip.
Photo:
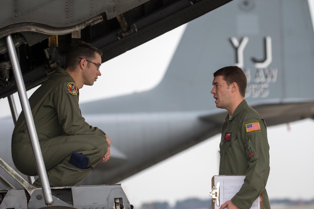
<svg viewBox="0 0 314 209">
<path fill-rule="evenodd" d="M 219 209 L 226 201 L 230 200 L 244 183 L 245 175 L 214 175 L 212 177 L 212 209 Z M 263 192 L 257 198 L 251 209 L 263 209 Z"/>
</svg>

